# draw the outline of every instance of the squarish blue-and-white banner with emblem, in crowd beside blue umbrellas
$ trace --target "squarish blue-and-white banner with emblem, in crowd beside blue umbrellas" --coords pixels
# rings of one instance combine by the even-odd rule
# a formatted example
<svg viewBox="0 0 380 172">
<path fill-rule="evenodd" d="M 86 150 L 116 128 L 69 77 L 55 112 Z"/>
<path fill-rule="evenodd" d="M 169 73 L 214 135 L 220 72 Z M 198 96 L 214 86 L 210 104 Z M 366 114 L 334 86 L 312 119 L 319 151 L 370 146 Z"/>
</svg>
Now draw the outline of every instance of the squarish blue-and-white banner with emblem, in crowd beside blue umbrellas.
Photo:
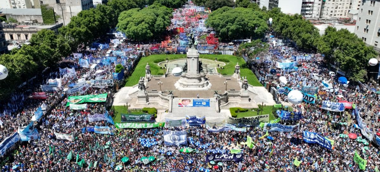
<svg viewBox="0 0 380 172">
<path fill-rule="evenodd" d="M 187 132 L 183 131 L 170 131 L 164 130 L 164 141 L 166 146 L 186 146 L 187 145 Z"/>
</svg>

